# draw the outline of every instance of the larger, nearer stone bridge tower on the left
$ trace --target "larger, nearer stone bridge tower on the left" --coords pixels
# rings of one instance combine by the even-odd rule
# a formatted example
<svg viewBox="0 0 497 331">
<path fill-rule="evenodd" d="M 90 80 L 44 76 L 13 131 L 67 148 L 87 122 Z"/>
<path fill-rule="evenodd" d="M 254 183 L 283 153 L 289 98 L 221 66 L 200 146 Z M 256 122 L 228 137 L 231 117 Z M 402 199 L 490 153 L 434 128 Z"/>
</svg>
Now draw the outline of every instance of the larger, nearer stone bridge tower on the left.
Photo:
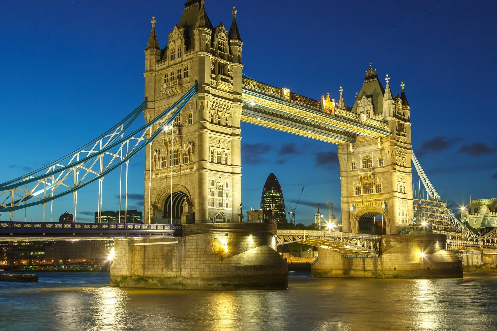
<svg viewBox="0 0 497 331">
<path fill-rule="evenodd" d="M 203 2 L 185 3 L 163 49 L 155 18 L 151 21 L 145 49 L 146 122 L 195 81 L 198 93 L 176 117 L 172 130 L 161 133 L 146 149 L 147 223 L 240 221 L 243 43 L 235 7 L 227 31 L 222 22 L 213 27 Z"/>
</svg>

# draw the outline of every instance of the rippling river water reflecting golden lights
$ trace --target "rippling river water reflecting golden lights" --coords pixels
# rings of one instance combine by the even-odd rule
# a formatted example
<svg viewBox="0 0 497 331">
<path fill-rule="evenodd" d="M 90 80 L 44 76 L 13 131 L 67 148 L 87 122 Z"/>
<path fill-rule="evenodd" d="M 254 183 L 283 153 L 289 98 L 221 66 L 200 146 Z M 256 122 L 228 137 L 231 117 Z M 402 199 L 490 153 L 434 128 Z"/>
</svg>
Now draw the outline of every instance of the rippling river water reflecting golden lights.
<svg viewBox="0 0 497 331">
<path fill-rule="evenodd" d="M 497 273 L 463 279 L 312 278 L 277 291 L 109 287 L 108 273 L 0 282 L 0 330 L 497 330 Z"/>
</svg>

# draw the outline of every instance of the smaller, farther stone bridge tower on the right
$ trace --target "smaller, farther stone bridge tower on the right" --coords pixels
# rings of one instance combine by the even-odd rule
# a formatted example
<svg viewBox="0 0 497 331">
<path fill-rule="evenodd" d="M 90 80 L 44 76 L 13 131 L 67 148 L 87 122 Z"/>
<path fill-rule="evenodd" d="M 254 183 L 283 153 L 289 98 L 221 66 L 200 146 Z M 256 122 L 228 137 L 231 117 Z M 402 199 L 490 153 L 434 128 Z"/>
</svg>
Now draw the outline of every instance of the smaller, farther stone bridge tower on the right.
<svg viewBox="0 0 497 331">
<path fill-rule="evenodd" d="M 397 234 L 414 216 L 410 106 L 404 83 L 393 97 L 389 79 L 383 88 L 370 64 L 352 112 L 387 123 L 392 135 L 338 146 L 344 232 Z"/>
</svg>

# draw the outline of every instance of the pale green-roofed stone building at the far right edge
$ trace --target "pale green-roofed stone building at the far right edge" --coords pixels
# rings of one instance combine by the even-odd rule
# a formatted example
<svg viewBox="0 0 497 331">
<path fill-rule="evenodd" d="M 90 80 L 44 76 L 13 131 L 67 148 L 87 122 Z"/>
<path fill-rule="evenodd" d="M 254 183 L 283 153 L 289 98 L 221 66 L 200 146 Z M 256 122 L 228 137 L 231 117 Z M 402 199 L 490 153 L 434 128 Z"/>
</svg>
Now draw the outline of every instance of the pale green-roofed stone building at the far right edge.
<svg viewBox="0 0 497 331">
<path fill-rule="evenodd" d="M 471 199 L 467 207 L 461 209 L 461 220 L 475 229 L 497 226 L 497 198 Z"/>
</svg>

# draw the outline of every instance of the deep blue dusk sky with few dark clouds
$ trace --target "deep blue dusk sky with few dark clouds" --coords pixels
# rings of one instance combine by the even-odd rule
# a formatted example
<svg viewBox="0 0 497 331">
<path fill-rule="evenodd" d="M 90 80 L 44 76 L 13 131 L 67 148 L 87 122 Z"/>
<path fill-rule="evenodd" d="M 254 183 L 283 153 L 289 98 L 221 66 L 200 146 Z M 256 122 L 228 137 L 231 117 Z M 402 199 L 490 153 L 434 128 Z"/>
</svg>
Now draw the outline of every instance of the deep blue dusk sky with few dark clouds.
<svg viewBox="0 0 497 331">
<path fill-rule="evenodd" d="M 55 161 L 138 107 L 152 15 L 164 48 L 185 2 L 3 1 L 0 182 Z M 454 213 L 470 195 L 497 198 L 497 1 L 206 0 L 212 24 L 229 29 L 233 5 L 245 75 L 314 99 L 338 100 L 341 85 L 351 106 L 371 61 L 394 95 L 404 81 L 414 153 Z M 317 203 L 326 217 L 327 201 L 341 219 L 336 154 L 336 145 L 243 123 L 244 214 L 259 208 L 273 172 L 287 207 L 306 185 L 297 223 L 313 222 Z M 141 154 L 131 161 L 130 209 L 143 210 L 143 169 Z M 118 209 L 116 179 L 105 178 L 103 210 Z M 96 185 L 79 195 L 77 218 L 92 221 Z M 54 202 L 54 217 L 66 210 L 72 197 Z M 27 220 L 41 220 L 41 208 Z"/>
</svg>

